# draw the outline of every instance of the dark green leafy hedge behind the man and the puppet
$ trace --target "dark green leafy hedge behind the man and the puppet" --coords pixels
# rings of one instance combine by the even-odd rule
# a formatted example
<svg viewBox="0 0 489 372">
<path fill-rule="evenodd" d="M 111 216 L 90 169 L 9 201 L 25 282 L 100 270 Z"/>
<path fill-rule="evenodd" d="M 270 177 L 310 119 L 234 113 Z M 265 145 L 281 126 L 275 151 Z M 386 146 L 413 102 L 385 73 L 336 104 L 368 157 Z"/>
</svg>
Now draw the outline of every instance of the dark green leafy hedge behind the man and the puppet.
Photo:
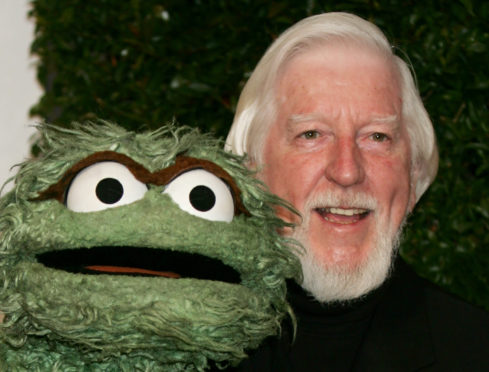
<svg viewBox="0 0 489 372">
<path fill-rule="evenodd" d="M 489 309 L 489 3 L 459 1 L 35 0 L 39 81 L 32 114 L 130 129 L 176 119 L 224 136 L 270 42 L 308 15 L 349 11 L 379 25 L 414 66 L 440 147 L 436 183 L 403 255 Z"/>
</svg>

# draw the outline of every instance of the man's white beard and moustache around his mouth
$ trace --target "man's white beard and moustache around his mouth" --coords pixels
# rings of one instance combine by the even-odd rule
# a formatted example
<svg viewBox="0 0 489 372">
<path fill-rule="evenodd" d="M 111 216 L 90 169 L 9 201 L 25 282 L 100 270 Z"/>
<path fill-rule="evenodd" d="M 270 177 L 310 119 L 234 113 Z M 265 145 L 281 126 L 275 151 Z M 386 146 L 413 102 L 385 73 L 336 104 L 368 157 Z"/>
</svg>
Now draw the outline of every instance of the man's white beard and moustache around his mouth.
<svg viewBox="0 0 489 372">
<path fill-rule="evenodd" d="M 306 211 L 311 211 L 314 206 L 342 205 L 363 207 L 376 210 L 376 201 L 363 194 L 344 196 L 322 195 L 313 197 L 306 203 Z M 302 287 L 310 292 L 319 302 L 342 302 L 359 298 L 380 286 L 389 276 L 394 257 L 397 254 L 400 237 L 402 235 L 402 221 L 397 230 L 394 230 L 388 221 L 376 219 L 376 239 L 374 247 L 367 259 L 354 268 L 342 266 L 326 266 L 316 257 L 311 249 L 307 237 L 309 229 L 309 216 L 297 227 L 292 237 L 298 240 L 304 247 L 299 253 L 302 264 Z"/>
</svg>

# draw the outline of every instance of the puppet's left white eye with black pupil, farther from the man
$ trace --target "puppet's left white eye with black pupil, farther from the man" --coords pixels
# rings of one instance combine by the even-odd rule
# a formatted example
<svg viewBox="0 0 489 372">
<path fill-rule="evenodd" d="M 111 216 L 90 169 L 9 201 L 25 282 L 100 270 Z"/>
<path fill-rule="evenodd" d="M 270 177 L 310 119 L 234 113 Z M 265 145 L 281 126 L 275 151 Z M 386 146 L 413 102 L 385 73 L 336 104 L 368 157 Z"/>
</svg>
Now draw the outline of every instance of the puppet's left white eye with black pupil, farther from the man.
<svg viewBox="0 0 489 372">
<path fill-rule="evenodd" d="M 80 171 L 66 193 L 66 206 L 75 212 L 95 212 L 141 199 L 147 186 L 124 165 L 104 161 Z"/>
</svg>

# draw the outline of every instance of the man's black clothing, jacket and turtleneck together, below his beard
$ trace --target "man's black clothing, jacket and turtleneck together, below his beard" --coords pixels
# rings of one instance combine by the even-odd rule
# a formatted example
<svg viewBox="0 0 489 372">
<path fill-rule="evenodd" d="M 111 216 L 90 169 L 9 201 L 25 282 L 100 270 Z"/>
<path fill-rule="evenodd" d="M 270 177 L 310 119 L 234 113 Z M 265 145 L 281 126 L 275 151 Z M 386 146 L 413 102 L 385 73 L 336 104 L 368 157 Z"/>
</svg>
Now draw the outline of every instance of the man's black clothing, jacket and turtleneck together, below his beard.
<svg viewBox="0 0 489 372">
<path fill-rule="evenodd" d="M 286 323 L 235 371 L 489 371 L 489 314 L 401 259 L 381 288 L 347 306 L 323 306 L 295 284 L 289 300 L 295 341 Z"/>
</svg>

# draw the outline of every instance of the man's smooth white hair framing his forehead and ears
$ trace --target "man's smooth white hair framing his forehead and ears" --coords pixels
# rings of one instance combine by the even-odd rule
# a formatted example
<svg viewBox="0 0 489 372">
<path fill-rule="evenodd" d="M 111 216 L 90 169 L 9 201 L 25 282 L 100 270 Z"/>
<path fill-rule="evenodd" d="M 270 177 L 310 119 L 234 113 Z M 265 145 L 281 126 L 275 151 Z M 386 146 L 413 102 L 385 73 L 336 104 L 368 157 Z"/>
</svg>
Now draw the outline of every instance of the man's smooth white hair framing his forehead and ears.
<svg viewBox="0 0 489 372">
<path fill-rule="evenodd" d="M 367 45 L 387 56 L 397 69 L 401 87 L 402 118 L 409 134 L 416 201 L 433 182 L 438 151 L 431 120 L 416 88 L 411 70 L 394 55 L 385 35 L 374 24 L 349 13 L 324 13 L 305 18 L 284 33 L 266 51 L 246 83 L 236 108 L 226 149 L 248 154 L 262 164 L 266 136 L 276 118 L 275 86 L 284 66 L 298 54 L 332 41 Z"/>
</svg>

